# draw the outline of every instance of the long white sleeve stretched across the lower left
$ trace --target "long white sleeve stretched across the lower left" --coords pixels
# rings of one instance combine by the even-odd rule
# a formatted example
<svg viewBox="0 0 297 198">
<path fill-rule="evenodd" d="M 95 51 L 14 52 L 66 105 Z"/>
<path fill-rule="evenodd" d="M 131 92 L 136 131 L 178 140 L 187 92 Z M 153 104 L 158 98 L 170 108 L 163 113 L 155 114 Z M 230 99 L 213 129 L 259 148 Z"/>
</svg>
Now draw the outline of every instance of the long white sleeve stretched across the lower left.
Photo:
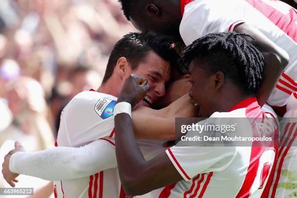
<svg viewBox="0 0 297 198">
<path fill-rule="evenodd" d="M 115 147 L 106 140 L 96 140 L 80 148 L 16 152 L 9 162 L 14 173 L 49 181 L 82 178 L 116 166 Z"/>
</svg>

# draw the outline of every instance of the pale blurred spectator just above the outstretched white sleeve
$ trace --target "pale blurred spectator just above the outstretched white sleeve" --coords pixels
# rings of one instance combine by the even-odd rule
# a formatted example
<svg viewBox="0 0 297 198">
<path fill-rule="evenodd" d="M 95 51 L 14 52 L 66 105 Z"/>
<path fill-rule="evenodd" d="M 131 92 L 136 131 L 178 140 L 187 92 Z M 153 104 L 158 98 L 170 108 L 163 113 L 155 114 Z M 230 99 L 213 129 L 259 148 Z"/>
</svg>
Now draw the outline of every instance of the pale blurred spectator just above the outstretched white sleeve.
<svg viewBox="0 0 297 198">
<path fill-rule="evenodd" d="M 5 140 L 23 142 L 29 151 L 53 145 L 53 133 L 47 120 L 49 111 L 41 85 L 29 77 L 7 83 L 8 106 L 13 122 L 1 132 L 0 144 Z"/>
</svg>

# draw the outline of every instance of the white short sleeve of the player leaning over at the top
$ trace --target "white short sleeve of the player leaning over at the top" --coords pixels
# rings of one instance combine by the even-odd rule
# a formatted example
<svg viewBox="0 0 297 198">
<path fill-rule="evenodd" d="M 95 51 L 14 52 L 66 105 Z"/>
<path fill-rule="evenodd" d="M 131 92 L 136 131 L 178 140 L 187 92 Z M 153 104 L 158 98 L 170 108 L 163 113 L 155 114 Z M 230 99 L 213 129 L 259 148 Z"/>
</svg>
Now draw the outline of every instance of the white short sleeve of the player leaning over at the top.
<svg viewBox="0 0 297 198">
<path fill-rule="evenodd" d="M 186 5 L 180 26 L 184 43 L 188 46 L 208 33 L 233 31 L 237 24 L 245 22 L 238 4 L 234 0 L 200 0 Z"/>
</svg>

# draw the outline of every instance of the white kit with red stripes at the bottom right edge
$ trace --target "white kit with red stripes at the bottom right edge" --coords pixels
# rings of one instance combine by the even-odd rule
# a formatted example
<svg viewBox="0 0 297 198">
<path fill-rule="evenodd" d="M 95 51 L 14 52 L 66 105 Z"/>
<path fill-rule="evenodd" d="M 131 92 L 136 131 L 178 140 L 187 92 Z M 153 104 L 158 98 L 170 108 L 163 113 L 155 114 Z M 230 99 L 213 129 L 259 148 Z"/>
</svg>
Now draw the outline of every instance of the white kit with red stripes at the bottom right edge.
<svg viewBox="0 0 297 198">
<path fill-rule="evenodd" d="M 290 198 L 297 195 L 297 92 L 288 99 L 283 116 L 281 146 L 269 198 Z"/>
</svg>

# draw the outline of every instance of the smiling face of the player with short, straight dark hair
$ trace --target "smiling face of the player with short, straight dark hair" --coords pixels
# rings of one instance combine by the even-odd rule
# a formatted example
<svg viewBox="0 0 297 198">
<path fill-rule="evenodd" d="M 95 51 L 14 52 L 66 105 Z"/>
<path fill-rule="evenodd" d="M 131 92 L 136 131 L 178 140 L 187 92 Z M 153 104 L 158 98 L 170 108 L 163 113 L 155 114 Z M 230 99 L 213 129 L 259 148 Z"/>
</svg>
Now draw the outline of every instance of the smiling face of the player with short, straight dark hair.
<svg viewBox="0 0 297 198">
<path fill-rule="evenodd" d="M 150 106 L 165 95 L 165 83 L 170 78 L 170 72 L 170 64 L 154 52 L 149 52 L 146 61 L 132 70 L 132 73 L 148 79 L 150 86 L 145 101 L 141 101 L 139 105 Z"/>
</svg>

